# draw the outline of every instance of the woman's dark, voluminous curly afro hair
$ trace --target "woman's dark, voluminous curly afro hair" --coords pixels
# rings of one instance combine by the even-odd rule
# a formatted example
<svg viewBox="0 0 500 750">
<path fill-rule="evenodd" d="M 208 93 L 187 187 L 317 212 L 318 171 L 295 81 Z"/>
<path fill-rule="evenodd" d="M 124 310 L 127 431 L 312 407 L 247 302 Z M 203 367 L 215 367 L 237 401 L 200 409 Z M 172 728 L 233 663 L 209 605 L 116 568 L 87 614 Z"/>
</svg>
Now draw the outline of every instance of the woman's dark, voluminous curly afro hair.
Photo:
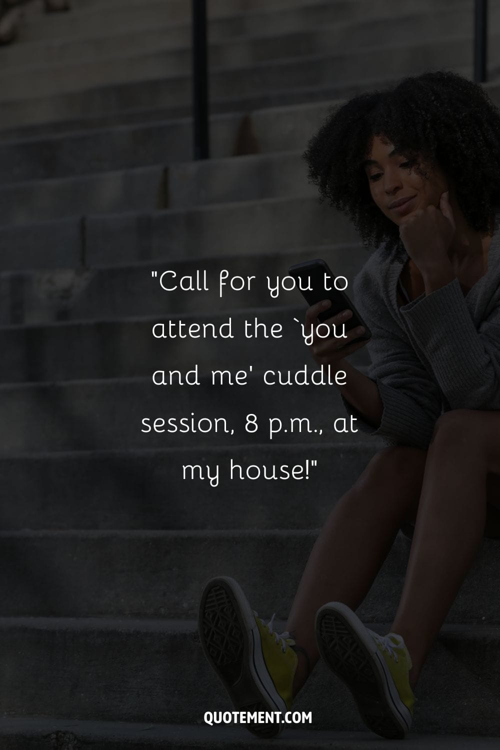
<svg viewBox="0 0 500 750">
<path fill-rule="evenodd" d="M 400 243 L 397 224 L 373 201 L 363 162 L 373 136 L 394 144 L 415 163 L 438 165 L 453 181 L 467 223 L 490 231 L 500 206 L 500 110 L 477 83 L 433 71 L 352 98 L 325 119 L 303 154 L 320 202 L 343 211 L 365 247 Z"/>
</svg>

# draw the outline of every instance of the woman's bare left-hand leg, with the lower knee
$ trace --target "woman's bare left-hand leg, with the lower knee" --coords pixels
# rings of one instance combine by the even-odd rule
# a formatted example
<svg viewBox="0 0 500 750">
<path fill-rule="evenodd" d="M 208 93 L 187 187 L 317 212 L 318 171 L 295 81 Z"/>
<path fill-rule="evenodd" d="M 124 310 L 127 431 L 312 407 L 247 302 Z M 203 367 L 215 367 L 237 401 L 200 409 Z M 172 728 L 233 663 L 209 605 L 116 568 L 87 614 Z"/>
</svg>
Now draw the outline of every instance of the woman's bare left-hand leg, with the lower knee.
<svg viewBox="0 0 500 750">
<path fill-rule="evenodd" d="M 286 625 L 298 645 L 294 694 L 319 658 L 316 611 L 328 601 L 342 601 L 352 609 L 361 604 L 401 523 L 415 517 L 426 457 L 413 448 L 383 449 L 328 517 Z"/>
</svg>

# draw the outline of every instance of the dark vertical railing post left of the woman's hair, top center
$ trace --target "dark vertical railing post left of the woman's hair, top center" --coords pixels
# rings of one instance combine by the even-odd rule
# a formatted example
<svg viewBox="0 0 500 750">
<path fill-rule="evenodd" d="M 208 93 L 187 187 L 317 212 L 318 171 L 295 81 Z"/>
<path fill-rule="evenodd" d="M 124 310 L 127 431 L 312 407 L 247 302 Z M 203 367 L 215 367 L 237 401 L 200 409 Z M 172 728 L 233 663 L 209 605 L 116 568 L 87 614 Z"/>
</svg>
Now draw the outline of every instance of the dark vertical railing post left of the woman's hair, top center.
<svg viewBox="0 0 500 750">
<path fill-rule="evenodd" d="M 193 158 L 208 159 L 208 55 L 206 0 L 192 0 Z"/>
</svg>

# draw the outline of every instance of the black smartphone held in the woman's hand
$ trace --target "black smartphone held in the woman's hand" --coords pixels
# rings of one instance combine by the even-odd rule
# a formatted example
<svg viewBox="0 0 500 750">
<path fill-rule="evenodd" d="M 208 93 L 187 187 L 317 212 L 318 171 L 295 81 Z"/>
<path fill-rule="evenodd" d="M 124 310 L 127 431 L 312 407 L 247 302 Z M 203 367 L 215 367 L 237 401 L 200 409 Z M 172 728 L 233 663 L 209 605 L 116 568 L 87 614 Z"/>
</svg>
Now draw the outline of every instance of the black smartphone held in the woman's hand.
<svg viewBox="0 0 500 750">
<path fill-rule="evenodd" d="M 370 329 L 346 293 L 333 288 L 335 277 L 324 260 L 316 258 L 316 260 L 307 260 L 305 263 L 297 263 L 296 266 L 289 268 L 289 275 L 295 279 L 298 290 L 309 305 L 316 305 L 316 302 L 321 302 L 322 299 L 331 301 L 331 308 L 319 314 L 318 320 L 320 323 L 334 317 L 343 310 L 352 310 L 352 317 L 346 320 L 346 332 L 358 328 L 358 326 L 364 326 L 364 334 L 353 339 L 350 343 L 369 341 L 372 338 Z M 326 287 L 329 288 L 326 289 Z"/>
</svg>

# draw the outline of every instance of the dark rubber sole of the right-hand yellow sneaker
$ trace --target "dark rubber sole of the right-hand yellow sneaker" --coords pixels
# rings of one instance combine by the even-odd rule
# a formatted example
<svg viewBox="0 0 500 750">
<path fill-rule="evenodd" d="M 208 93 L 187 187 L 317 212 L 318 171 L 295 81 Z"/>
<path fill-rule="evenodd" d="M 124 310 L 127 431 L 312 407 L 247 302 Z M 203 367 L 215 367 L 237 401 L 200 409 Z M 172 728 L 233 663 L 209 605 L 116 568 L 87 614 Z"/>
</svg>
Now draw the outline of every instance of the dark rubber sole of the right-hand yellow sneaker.
<svg viewBox="0 0 500 750">
<path fill-rule="evenodd" d="M 387 739 L 403 739 L 412 726 L 412 714 L 355 613 L 345 604 L 325 604 L 316 613 L 316 640 L 328 667 L 352 692 L 367 727 Z"/>
</svg>

